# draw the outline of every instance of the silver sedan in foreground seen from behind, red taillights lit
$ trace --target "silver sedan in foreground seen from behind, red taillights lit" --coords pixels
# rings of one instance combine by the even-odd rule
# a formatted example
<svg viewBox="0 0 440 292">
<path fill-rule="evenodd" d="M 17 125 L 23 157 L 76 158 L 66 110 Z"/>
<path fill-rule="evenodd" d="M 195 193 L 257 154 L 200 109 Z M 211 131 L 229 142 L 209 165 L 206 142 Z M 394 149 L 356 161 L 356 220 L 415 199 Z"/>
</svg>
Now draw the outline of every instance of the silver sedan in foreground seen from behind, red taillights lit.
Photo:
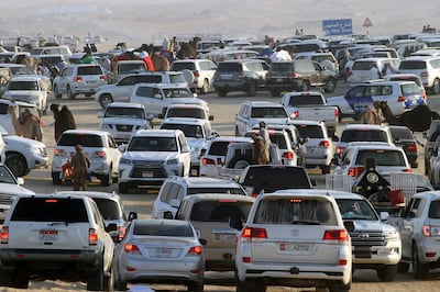
<svg viewBox="0 0 440 292">
<path fill-rule="evenodd" d="M 202 243 L 187 221 L 133 220 L 114 251 L 116 289 L 125 291 L 128 283 L 175 283 L 202 292 Z"/>
</svg>

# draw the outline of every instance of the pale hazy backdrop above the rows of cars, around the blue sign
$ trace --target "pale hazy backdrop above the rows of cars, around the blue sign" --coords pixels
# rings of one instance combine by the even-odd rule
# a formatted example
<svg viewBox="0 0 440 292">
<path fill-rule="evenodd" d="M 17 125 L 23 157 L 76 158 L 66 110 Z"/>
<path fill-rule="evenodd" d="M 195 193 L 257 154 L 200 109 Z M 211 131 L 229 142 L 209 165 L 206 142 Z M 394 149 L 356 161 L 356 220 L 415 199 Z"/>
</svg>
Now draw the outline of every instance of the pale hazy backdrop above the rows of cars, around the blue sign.
<svg viewBox="0 0 440 292">
<path fill-rule="evenodd" d="M 196 34 L 278 40 L 299 29 L 324 36 L 322 21 L 337 19 L 351 19 L 354 33 L 383 36 L 440 27 L 439 11 L 438 0 L 14 0 L 2 7 L 0 37 L 90 34 L 133 46 Z"/>
</svg>

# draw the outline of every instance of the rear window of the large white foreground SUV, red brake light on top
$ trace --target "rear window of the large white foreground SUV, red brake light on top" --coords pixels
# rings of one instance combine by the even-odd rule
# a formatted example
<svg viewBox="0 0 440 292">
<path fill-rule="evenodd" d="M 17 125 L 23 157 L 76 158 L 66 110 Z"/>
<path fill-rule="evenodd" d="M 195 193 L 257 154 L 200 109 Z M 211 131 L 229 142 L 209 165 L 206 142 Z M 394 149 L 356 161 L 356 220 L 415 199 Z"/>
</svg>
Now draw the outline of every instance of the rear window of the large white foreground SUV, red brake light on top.
<svg viewBox="0 0 440 292">
<path fill-rule="evenodd" d="M 260 201 L 255 224 L 337 225 L 332 204 L 327 200 L 301 196 L 270 198 Z"/>
</svg>

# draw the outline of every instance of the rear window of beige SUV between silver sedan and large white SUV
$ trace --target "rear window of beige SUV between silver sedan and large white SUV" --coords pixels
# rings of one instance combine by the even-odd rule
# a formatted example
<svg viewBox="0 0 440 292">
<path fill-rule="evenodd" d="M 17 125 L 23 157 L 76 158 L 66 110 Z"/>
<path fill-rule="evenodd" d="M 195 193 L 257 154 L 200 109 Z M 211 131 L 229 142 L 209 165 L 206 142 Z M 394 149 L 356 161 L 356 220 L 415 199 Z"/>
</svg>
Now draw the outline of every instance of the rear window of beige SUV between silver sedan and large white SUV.
<svg viewBox="0 0 440 292">
<path fill-rule="evenodd" d="M 229 222 L 230 218 L 240 218 L 245 222 L 253 202 L 234 200 L 201 201 L 195 203 L 191 211 L 191 221 L 199 222 Z"/>
</svg>

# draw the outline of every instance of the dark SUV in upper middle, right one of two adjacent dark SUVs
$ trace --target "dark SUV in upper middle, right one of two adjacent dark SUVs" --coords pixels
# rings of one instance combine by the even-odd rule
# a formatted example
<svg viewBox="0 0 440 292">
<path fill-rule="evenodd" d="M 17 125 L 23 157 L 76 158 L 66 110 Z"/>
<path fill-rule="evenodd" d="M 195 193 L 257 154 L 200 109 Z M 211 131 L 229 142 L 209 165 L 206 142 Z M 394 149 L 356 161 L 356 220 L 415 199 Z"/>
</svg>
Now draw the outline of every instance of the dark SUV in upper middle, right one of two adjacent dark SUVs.
<svg viewBox="0 0 440 292">
<path fill-rule="evenodd" d="M 298 59 L 272 63 L 266 88 L 272 97 L 279 97 L 282 91 L 308 91 L 310 87 L 323 87 L 326 92 L 333 92 L 337 82 L 333 71 L 327 70 L 317 61 Z"/>
</svg>

